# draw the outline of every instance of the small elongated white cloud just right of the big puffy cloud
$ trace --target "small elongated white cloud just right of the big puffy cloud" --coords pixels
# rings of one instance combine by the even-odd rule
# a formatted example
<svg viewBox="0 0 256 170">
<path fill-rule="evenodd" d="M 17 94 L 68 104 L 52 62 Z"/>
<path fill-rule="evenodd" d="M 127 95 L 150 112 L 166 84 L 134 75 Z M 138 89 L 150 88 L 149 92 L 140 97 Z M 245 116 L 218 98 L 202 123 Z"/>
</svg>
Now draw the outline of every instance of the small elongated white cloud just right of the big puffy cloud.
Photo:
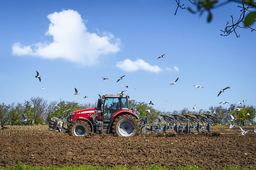
<svg viewBox="0 0 256 170">
<path fill-rule="evenodd" d="M 132 61 L 132 60 L 124 60 L 122 62 L 117 62 L 116 67 L 118 67 L 119 69 L 122 69 L 126 72 L 135 72 L 139 69 L 148 71 L 148 72 L 161 72 L 161 69 L 154 65 L 151 66 L 149 63 L 144 62 L 144 60 L 142 59 L 138 59 L 136 61 Z"/>
</svg>

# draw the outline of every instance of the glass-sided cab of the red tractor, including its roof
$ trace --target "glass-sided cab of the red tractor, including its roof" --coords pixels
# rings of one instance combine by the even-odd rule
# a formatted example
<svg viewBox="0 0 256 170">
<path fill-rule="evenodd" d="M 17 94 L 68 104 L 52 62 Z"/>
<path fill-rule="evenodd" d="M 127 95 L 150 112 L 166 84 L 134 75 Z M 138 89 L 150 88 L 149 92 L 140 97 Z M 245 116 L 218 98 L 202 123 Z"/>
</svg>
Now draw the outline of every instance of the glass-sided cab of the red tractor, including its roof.
<svg viewBox="0 0 256 170">
<path fill-rule="evenodd" d="M 106 94 L 99 99 L 98 106 L 102 108 L 102 120 L 104 123 L 110 123 L 114 113 L 121 110 L 129 111 L 128 95 Z"/>
</svg>

